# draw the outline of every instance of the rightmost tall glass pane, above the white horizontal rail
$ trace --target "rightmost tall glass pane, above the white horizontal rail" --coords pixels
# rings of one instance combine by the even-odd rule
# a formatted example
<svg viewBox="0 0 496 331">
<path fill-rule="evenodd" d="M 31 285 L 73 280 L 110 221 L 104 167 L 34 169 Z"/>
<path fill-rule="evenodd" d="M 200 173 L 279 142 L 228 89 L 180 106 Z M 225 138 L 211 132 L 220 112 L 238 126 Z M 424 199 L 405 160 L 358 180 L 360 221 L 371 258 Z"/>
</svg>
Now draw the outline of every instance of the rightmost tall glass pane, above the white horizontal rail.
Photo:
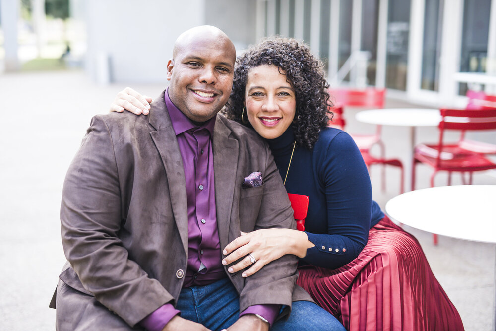
<svg viewBox="0 0 496 331">
<path fill-rule="evenodd" d="M 465 0 L 460 71 L 486 72 L 490 9 L 491 0 Z M 460 94 L 466 92 L 467 84 L 460 84 Z"/>
</svg>

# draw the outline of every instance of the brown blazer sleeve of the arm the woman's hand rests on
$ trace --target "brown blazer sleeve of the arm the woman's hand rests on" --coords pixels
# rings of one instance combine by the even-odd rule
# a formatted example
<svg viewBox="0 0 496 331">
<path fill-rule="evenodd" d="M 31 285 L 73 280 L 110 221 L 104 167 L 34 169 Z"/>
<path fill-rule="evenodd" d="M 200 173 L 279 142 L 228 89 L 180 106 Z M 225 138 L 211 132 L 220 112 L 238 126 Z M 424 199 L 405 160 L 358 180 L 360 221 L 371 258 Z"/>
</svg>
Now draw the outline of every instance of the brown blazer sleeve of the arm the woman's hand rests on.
<svg viewBox="0 0 496 331">
<path fill-rule="evenodd" d="M 265 228 L 296 229 L 288 194 L 267 146 L 265 153 L 265 168 L 261 171 L 264 176 L 264 189 L 254 230 Z M 285 309 L 281 316 L 289 313 L 292 292 L 298 275 L 297 264 L 296 256 L 285 255 L 247 277 L 240 295 L 240 311 L 256 304 L 282 304 L 288 309 Z M 311 300 L 310 297 L 309 300 Z"/>
</svg>

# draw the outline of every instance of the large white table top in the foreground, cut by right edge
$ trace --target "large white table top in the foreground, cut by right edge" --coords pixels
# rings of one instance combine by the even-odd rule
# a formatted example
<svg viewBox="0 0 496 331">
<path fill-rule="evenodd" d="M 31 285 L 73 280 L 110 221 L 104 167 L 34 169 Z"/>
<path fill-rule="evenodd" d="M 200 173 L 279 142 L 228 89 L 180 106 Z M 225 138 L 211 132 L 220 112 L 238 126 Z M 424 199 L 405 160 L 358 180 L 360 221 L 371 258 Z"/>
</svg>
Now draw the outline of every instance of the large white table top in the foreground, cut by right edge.
<svg viewBox="0 0 496 331">
<path fill-rule="evenodd" d="M 390 199 L 386 213 L 397 224 L 453 238 L 496 243 L 496 185 L 410 191 Z"/>
</svg>

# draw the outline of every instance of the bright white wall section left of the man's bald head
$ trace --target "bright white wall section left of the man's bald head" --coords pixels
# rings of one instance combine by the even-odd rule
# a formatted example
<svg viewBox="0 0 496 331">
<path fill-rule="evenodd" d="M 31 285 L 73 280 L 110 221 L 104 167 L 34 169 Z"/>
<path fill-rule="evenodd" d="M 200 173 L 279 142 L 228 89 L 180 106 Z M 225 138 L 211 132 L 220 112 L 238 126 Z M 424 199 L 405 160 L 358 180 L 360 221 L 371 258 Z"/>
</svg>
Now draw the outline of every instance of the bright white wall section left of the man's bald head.
<svg viewBox="0 0 496 331">
<path fill-rule="evenodd" d="M 205 0 L 85 2 L 86 71 L 101 83 L 166 83 L 174 41 L 205 24 Z"/>
</svg>

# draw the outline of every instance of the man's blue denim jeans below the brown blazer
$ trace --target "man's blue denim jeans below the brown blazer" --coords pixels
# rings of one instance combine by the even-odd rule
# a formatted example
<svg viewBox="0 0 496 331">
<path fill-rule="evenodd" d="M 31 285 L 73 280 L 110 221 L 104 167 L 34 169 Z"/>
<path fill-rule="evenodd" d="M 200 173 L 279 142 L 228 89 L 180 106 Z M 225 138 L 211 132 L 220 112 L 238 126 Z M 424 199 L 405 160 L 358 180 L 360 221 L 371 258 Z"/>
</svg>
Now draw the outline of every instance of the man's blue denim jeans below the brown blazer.
<svg viewBox="0 0 496 331">
<path fill-rule="evenodd" d="M 181 290 L 178 304 L 181 317 L 201 323 L 210 330 L 222 330 L 239 318 L 238 292 L 228 278 L 206 286 L 191 286 Z M 270 330 L 339 330 L 345 331 L 330 313 L 309 301 L 295 301 L 289 318 L 278 320 Z"/>
</svg>

